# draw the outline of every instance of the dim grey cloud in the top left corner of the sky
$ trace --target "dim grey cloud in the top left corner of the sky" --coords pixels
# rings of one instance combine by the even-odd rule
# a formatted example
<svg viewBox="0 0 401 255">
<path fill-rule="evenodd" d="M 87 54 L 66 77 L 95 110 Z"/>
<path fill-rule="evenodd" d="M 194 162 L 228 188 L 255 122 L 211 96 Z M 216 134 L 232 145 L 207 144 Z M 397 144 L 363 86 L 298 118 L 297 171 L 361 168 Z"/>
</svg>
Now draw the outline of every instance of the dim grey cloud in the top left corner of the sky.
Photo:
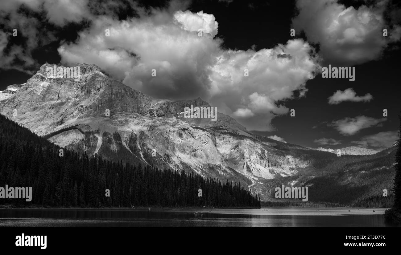
<svg viewBox="0 0 401 255">
<path fill-rule="evenodd" d="M 33 74 L 39 64 L 32 57 L 32 52 L 56 40 L 56 30 L 49 30 L 47 23 L 65 26 L 69 22 L 80 22 L 90 16 L 86 7 L 89 0 L 2 0 L 0 1 L 0 68 L 16 69 Z M 27 15 L 27 12 L 44 13 Z M 13 30 L 16 29 L 21 44 L 10 42 Z"/>
</svg>

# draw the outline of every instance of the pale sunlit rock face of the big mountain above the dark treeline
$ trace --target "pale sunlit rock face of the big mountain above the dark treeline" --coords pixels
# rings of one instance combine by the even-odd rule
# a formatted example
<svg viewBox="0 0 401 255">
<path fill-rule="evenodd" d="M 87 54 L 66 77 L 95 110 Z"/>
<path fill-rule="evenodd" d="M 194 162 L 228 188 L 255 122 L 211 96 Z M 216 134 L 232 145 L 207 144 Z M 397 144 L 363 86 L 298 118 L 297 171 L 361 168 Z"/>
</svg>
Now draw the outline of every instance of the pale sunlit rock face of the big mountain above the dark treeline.
<svg viewBox="0 0 401 255">
<path fill-rule="evenodd" d="M 45 64 L 26 83 L 4 90 L 0 112 L 62 147 L 249 187 L 309 165 L 302 153 L 290 150 L 293 145 L 253 135 L 228 115 L 218 113 L 216 121 L 185 118 L 182 112 L 191 104 L 211 107 L 201 98 L 155 99 L 93 64 L 75 66 L 77 80 L 49 75 L 49 67 L 54 65 Z"/>
</svg>

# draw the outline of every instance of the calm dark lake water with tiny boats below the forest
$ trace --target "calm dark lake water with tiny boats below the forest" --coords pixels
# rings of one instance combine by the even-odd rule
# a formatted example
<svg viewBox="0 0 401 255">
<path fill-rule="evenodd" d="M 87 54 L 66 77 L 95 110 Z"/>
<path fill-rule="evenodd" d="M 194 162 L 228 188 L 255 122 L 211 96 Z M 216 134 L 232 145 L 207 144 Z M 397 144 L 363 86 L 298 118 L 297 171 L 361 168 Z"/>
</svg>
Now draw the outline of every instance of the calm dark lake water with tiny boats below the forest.
<svg viewBox="0 0 401 255">
<path fill-rule="evenodd" d="M 195 211 L 207 213 L 195 214 Z M 278 207 L 0 209 L 0 227 L 393 227 L 385 223 L 384 211 L 366 208 Z"/>
</svg>

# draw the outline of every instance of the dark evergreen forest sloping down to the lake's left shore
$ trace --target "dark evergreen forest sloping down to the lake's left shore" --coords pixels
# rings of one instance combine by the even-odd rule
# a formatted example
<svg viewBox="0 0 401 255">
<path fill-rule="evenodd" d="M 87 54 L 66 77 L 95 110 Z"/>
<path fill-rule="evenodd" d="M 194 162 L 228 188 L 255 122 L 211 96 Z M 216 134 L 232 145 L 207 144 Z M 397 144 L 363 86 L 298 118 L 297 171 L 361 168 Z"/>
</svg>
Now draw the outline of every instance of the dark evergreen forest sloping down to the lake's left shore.
<svg viewBox="0 0 401 255">
<path fill-rule="evenodd" d="M 239 183 L 194 173 L 159 170 L 64 151 L 0 115 L 0 187 L 32 187 L 32 201 L 0 199 L 17 206 L 260 207 Z M 110 197 L 105 190 L 109 189 Z M 198 197 L 202 189 L 202 197 Z"/>
</svg>

